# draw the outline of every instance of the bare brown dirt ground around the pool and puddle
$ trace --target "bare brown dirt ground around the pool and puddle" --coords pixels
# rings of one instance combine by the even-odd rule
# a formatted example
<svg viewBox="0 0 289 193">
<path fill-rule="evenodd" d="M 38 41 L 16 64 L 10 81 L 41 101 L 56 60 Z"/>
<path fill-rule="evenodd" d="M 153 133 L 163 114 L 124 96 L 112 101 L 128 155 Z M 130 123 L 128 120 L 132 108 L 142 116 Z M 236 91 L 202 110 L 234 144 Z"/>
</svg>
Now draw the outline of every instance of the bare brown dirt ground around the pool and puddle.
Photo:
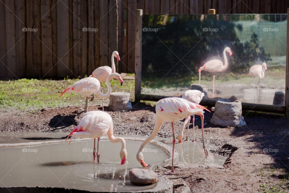
<svg viewBox="0 0 289 193">
<path fill-rule="evenodd" d="M 133 104 L 130 112 L 108 112 L 115 134 L 149 135 L 154 128 L 154 107 Z M 97 110 L 99 106 L 89 106 Z M 72 106 L 49 108 L 33 114 L 1 110 L 0 131 L 71 131 L 83 115 Z M 205 143 L 218 147 L 214 153 L 227 156 L 224 168 L 177 165 L 171 179 L 183 179 L 191 192 L 288 192 L 289 191 L 289 120 L 281 115 L 244 112 L 247 126 L 217 127 L 210 124 L 213 113 L 205 113 Z M 175 124 L 179 132 L 182 121 Z M 200 119 L 195 122 L 197 141 L 201 141 Z M 190 126 L 191 128 L 191 126 Z M 191 130 L 192 131 L 192 130 Z M 190 131 L 190 133 L 192 133 Z M 160 129 L 160 137 L 172 137 L 169 122 Z M 213 153 L 213 152 L 209 152 Z M 160 169 L 160 174 L 168 169 Z"/>
</svg>

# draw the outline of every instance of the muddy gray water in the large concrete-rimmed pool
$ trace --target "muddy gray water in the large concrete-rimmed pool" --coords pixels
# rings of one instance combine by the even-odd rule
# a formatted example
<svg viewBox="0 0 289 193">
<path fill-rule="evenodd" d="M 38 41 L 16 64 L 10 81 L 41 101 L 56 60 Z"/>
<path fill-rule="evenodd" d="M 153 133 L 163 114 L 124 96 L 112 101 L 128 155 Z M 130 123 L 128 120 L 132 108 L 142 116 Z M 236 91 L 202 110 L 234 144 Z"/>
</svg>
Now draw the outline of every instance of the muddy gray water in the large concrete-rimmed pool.
<svg viewBox="0 0 289 193">
<path fill-rule="evenodd" d="M 100 163 L 93 163 L 93 141 L 48 144 L 0 149 L 1 186 L 51 186 L 88 191 L 136 191 L 155 185 L 135 186 L 129 182 L 129 169 L 141 167 L 135 155 L 141 142 L 126 140 L 128 163 L 120 165 L 120 144 L 100 142 Z M 146 163 L 168 158 L 159 147 L 147 144 Z"/>
</svg>

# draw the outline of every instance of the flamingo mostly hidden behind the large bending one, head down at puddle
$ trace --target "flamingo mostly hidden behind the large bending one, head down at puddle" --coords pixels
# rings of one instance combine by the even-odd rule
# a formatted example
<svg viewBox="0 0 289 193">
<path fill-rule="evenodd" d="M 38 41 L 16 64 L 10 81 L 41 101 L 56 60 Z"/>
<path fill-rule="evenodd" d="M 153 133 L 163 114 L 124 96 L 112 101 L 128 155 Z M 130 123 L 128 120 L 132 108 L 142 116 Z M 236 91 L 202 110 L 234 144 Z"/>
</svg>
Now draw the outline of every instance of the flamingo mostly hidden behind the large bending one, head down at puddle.
<svg viewBox="0 0 289 193">
<path fill-rule="evenodd" d="M 190 101 L 192 103 L 199 104 L 204 96 L 205 96 L 205 93 L 202 93 L 200 90 L 187 90 L 183 94 L 182 98 L 185 99 L 185 100 L 188 100 L 188 101 Z M 185 119 L 185 122 L 184 122 L 184 124 L 182 126 L 182 130 L 181 130 L 180 134 L 178 135 L 179 143 L 182 143 L 183 133 L 184 133 L 184 129 L 185 129 L 185 126 L 186 126 L 187 123 L 188 123 L 188 129 L 187 129 L 187 135 L 186 135 L 186 140 L 185 141 L 188 141 L 190 120 L 191 120 L 191 116 L 188 116 Z M 193 115 L 193 131 L 194 131 L 194 140 L 193 140 L 193 142 L 197 142 L 197 141 L 195 141 L 195 125 L 194 125 L 194 123 L 195 123 L 195 115 Z M 204 136 L 203 136 L 203 138 L 204 138 Z"/>
</svg>

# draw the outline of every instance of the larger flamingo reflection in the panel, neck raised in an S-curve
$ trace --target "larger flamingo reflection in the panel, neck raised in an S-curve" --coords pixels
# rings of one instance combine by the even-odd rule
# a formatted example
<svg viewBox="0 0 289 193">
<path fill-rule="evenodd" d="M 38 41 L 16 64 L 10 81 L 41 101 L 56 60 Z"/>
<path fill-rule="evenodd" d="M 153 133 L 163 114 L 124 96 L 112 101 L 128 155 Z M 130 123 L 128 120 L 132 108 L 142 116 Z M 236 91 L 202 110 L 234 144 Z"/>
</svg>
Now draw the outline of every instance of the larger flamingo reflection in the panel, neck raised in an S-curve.
<svg viewBox="0 0 289 193">
<path fill-rule="evenodd" d="M 213 72 L 213 97 L 215 94 L 215 75 L 216 75 L 216 72 L 222 72 L 228 68 L 228 59 L 227 59 L 226 52 L 228 52 L 230 56 L 232 55 L 231 49 L 229 47 L 226 47 L 223 51 L 225 65 L 223 64 L 223 62 L 221 60 L 214 59 L 214 60 L 210 60 L 210 61 L 206 62 L 198 70 L 198 72 L 199 72 L 199 84 L 201 84 L 201 71 L 202 70 L 208 71 L 208 72 Z"/>
</svg>

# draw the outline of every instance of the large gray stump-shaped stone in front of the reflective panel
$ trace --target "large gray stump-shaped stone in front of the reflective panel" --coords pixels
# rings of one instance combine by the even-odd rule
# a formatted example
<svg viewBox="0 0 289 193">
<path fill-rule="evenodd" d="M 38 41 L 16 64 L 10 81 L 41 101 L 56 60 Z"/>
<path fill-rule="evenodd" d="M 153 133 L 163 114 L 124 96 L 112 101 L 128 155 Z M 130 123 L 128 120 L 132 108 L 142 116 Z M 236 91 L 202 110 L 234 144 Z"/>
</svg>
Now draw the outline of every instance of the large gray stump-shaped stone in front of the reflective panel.
<svg viewBox="0 0 289 193">
<path fill-rule="evenodd" d="M 211 124 L 219 126 L 240 127 L 246 125 L 242 115 L 241 101 L 235 100 L 234 102 L 216 101 L 215 111 Z"/>
</svg>

